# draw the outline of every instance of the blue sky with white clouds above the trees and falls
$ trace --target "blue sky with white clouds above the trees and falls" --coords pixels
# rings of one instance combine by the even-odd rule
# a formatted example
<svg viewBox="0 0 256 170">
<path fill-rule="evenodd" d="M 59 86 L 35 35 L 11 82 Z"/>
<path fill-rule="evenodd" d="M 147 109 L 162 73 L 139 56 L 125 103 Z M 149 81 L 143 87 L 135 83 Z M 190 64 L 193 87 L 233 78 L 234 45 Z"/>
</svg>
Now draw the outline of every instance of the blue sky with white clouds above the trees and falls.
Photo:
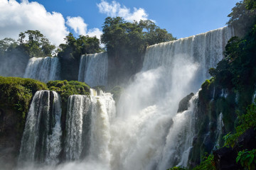
<svg viewBox="0 0 256 170">
<path fill-rule="evenodd" d="M 55 44 L 59 44 L 70 31 L 76 35 L 99 37 L 105 18 L 119 15 L 127 21 L 150 19 L 160 28 L 166 28 L 174 37 L 184 38 L 225 26 L 227 16 L 237 2 L 238 0 L 0 0 L 0 16 L 6 16 L 0 17 L 0 38 L 15 38 L 18 33 L 28 29 L 41 30 Z"/>
</svg>

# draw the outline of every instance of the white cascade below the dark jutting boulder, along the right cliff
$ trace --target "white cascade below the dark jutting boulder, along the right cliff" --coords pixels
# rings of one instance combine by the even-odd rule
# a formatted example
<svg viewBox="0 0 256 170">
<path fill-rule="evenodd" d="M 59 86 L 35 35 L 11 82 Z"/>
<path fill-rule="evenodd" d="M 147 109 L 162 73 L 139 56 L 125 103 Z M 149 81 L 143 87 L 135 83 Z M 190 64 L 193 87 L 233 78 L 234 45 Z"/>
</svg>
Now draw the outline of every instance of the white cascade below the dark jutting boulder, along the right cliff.
<svg viewBox="0 0 256 170">
<path fill-rule="evenodd" d="M 187 111 L 174 116 L 174 124 L 171 126 L 169 135 L 166 137 L 166 145 L 159 169 L 164 169 L 169 164 L 178 164 L 177 166 L 186 166 L 188 164 L 188 155 L 195 135 L 195 120 L 196 112 L 198 111 L 197 102 L 198 93 L 189 101 L 190 107 Z"/>
</svg>

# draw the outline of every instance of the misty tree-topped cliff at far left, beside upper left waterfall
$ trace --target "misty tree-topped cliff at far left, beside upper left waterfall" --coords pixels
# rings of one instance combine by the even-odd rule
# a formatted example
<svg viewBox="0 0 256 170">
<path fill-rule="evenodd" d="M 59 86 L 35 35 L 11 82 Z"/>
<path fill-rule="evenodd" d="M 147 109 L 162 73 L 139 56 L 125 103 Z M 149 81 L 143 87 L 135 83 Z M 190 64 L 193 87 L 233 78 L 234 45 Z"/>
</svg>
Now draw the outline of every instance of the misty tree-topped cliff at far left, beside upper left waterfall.
<svg viewBox="0 0 256 170">
<path fill-rule="evenodd" d="M 51 45 L 49 40 L 38 30 L 27 30 L 25 33 L 20 33 L 17 42 L 11 38 L 4 38 L 0 40 L 1 75 L 23 77 L 30 57 L 51 56 L 54 49 L 55 46 Z"/>
</svg>

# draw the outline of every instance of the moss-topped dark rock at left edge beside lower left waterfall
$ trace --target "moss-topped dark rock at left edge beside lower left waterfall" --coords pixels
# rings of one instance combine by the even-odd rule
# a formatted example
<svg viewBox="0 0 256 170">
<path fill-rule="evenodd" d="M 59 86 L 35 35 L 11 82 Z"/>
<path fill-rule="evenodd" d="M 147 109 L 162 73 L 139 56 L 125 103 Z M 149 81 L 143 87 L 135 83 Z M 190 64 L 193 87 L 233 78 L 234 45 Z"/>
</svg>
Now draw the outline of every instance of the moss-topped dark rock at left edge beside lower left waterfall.
<svg viewBox="0 0 256 170">
<path fill-rule="evenodd" d="M 29 104 L 36 91 L 48 89 L 33 79 L 0 77 L 0 164 L 12 169 L 16 164 Z"/>
</svg>

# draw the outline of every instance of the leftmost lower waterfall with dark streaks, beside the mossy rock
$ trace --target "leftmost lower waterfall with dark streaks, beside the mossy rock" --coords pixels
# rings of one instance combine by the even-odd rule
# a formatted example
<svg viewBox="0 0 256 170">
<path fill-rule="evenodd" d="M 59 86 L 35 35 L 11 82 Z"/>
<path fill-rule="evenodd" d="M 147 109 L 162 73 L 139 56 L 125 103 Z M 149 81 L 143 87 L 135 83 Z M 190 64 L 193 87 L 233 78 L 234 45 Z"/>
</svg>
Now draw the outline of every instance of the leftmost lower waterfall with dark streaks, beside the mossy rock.
<svg viewBox="0 0 256 170">
<path fill-rule="evenodd" d="M 58 164 L 60 116 L 60 96 L 55 91 L 37 91 L 26 118 L 18 164 Z"/>
</svg>

